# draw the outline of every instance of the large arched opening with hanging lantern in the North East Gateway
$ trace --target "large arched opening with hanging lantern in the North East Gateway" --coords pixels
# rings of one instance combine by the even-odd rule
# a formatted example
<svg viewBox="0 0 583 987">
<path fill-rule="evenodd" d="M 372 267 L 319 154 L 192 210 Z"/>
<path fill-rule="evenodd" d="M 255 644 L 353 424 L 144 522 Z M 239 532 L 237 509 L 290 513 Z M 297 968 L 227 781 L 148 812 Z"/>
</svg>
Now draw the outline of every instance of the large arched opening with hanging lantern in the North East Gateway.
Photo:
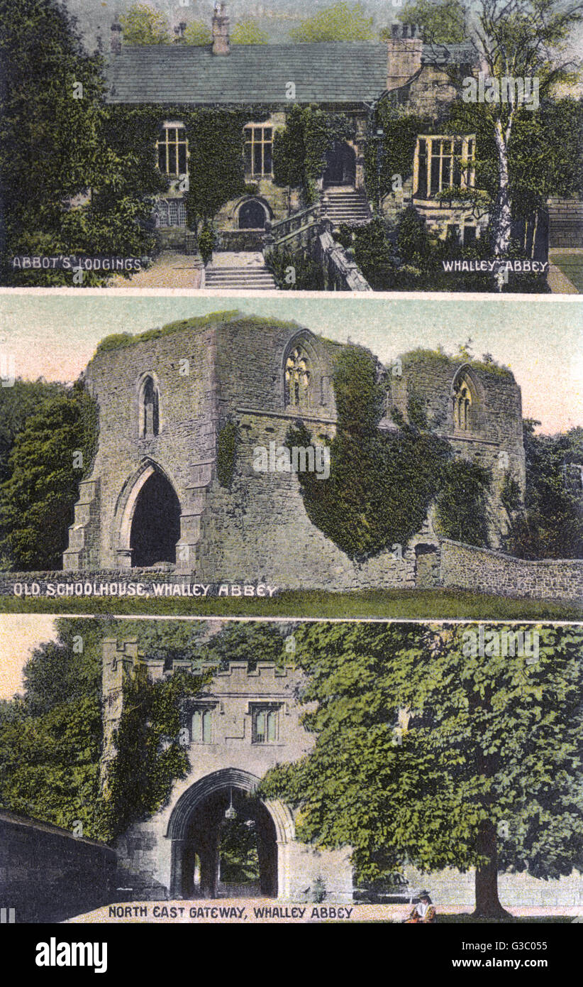
<svg viewBox="0 0 583 987">
<path fill-rule="evenodd" d="M 179 798 L 166 834 L 172 898 L 288 895 L 291 813 L 277 799 L 256 797 L 258 781 L 248 771 L 222 768 Z"/>
</svg>

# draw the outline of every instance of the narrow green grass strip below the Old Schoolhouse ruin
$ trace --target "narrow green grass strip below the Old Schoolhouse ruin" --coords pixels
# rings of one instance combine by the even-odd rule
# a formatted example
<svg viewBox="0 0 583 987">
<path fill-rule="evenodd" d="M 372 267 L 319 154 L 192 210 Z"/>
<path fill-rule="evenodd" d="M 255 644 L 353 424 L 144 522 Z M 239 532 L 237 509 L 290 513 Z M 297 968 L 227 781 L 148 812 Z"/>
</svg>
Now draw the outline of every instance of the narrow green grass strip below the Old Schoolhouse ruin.
<svg viewBox="0 0 583 987">
<path fill-rule="evenodd" d="M 0 597 L 1 613 L 110 613 L 187 617 L 316 617 L 401 620 L 583 621 L 583 603 L 512 599 L 470 590 L 286 590 L 260 597 Z"/>
</svg>

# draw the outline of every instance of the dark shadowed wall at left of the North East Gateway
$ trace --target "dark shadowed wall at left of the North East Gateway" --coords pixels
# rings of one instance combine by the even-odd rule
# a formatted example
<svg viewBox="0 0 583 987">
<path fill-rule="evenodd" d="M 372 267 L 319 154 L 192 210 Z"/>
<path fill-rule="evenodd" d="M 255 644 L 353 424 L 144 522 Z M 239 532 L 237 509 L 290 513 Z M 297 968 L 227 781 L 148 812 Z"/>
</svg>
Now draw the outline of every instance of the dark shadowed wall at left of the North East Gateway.
<svg viewBox="0 0 583 987">
<path fill-rule="evenodd" d="M 116 857 L 105 843 L 0 812 L 0 906 L 15 922 L 61 922 L 115 900 Z"/>
</svg>

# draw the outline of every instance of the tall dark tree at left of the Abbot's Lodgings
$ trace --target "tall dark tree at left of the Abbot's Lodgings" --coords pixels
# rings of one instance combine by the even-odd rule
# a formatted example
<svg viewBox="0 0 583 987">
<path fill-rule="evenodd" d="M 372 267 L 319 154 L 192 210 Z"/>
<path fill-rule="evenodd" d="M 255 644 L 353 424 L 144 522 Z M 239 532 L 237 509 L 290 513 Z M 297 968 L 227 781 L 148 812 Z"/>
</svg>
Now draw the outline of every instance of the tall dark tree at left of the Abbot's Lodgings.
<svg viewBox="0 0 583 987">
<path fill-rule="evenodd" d="M 150 190 L 136 190 L 133 149 L 119 155 L 107 140 L 101 57 L 83 50 L 57 0 L 3 0 L 0 10 L 4 282 L 71 282 L 66 270 L 14 266 L 19 255 L 152 253 Z M 83 273 L 84 284 L 103 280 Z"/>
</svg>

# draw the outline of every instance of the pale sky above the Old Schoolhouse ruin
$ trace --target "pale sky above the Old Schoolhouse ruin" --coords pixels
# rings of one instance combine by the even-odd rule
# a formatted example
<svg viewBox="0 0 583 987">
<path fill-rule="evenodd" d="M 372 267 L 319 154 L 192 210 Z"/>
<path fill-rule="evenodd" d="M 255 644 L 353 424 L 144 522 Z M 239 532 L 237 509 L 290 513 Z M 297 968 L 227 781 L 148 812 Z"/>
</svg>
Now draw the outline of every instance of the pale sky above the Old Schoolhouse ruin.
<svg viewBox="0 0 583 987">
<path fill-rule="evenodd" d="M 384 363 L 422 346 L 455 353 L 471 339 L 474 356 L 492 354 L 522 388 L 523 415 L 555 433 L 583 425 L 583 301 L 577 296 L 415 295 L 348 293 L 212 297 L 132 289 L 3 291 L 0 357 L 14 357 L 25 380 L 71 382 L 112 333 L 144 332 L 179 319 L 239 309 L 296 321 L 337 342 L 360 343 Z"/>
</svg>

